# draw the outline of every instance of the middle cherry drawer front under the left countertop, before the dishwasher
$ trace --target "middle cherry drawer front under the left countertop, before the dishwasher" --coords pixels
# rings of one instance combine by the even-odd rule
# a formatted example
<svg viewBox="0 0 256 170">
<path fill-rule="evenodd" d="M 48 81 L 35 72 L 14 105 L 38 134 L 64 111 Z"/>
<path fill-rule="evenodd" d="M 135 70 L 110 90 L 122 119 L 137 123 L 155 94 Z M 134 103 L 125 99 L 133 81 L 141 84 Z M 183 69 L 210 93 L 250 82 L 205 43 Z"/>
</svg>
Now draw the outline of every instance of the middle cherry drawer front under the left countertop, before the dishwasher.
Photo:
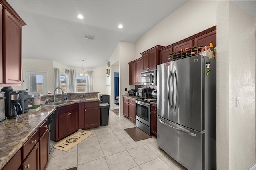
<svg viewBox="0 0 256 170">
<path fill-rule="evenodd" d="M 36 142 L 39 139 L 39 130 L 28 139 L 28 141 L 22 146 L 22 160 L 26 158 L 31 149 L 36 145 Z"/>
</svg>

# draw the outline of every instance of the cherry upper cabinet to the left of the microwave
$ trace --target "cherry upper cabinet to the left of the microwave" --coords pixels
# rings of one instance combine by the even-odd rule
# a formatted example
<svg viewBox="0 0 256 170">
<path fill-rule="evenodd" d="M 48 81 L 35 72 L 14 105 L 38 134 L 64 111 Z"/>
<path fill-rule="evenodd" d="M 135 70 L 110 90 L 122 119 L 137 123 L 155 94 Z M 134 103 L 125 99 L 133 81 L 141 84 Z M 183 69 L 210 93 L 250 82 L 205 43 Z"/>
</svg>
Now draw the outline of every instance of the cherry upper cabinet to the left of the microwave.
<svg viewBox="0 0 256 170">
<path fill-rule="evenodd" d="M 140 85 L 140 73 L 142 70 L 142 57 L 131 61 L 129 64 L 129 84 Z"/>
</svg>

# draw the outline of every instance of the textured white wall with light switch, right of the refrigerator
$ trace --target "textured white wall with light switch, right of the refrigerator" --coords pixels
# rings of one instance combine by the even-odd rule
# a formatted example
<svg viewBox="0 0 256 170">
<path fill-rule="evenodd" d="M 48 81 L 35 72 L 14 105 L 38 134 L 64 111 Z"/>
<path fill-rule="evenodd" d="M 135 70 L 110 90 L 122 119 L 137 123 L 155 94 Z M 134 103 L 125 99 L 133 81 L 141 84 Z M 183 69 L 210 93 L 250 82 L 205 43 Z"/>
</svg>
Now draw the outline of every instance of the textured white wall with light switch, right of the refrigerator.
<svg viewBox="0 0 256 170">
<path fill-rule="evenodd" d="M 250 169 L 255 164 L 255 17 L 232 1 L 219 1 L 217 21 L 217 169 Z"/>
</svg>

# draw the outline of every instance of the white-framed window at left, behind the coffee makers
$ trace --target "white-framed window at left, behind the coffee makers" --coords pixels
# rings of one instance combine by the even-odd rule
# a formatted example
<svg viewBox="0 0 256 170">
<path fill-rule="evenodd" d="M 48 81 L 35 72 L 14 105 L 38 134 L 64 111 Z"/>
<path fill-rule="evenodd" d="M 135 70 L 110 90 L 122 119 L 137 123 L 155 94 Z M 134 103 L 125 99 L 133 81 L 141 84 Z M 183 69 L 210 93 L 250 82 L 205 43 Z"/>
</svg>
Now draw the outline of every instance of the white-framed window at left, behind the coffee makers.
<svg viewBox="0 0 256 170">
<path fill-rule="evenodd" d="M 23 75 L 26 77 L 24 84 L 29 94 L 34 95 L 35 92 L 48 94 L 46 71 L 24 71 Z"/>
</svg>

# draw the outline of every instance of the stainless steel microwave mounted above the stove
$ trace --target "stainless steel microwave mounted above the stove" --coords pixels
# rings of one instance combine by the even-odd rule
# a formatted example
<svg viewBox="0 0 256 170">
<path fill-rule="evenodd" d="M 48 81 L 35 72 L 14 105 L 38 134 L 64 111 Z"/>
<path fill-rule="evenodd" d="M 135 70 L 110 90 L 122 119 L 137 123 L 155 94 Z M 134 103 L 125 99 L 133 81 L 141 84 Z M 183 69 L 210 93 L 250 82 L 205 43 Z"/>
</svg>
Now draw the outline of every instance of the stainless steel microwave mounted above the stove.
<svg viewBox="0 0 256 170">
<path fill-rule="evenodd" d="M 140 85 L 156 85 L 156 70 L 140 73 Z"/>
</svg>

